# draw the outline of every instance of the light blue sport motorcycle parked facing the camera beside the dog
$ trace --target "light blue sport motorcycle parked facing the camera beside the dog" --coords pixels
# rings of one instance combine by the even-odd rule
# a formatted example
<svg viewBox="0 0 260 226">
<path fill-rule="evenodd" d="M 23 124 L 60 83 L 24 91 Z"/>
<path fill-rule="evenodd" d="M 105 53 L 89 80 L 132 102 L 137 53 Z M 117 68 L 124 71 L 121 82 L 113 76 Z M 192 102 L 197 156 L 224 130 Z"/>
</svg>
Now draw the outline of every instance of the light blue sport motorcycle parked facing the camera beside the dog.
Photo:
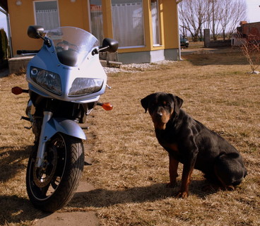
<svg viewBox="0 0 260 226">
<path fill-rule="evenodd" d="M 102 46 L 89 32 L 60 27 L 47 31 L 31 25 L 28 36 L 43 40 L 42 48 L 28 63 L 28 90 L 12 88 L 12 93 L 28 93 L 25 110 L 35 135 L 26 171 L 28 197 L 35 208 L 54 212 L 64 207 L 75 193 L 84 166 L 85 133 L 79 124 L 105 93 L 107 75 L 99 52 L 116 52 L 118 42 L 105 38 Z"/>
</svg>

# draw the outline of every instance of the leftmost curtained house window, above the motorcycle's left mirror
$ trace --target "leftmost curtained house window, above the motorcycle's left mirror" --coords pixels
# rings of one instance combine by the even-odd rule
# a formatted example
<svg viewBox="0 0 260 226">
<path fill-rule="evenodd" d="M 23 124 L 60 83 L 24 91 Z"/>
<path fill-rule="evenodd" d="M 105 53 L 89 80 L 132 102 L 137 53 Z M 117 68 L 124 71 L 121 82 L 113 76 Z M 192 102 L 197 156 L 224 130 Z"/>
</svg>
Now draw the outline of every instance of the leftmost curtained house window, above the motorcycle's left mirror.
<svg viewBox="0 0 260 226">
<path fill-rule="evenodd" d="M 59 27 L 59 11 L 57 1 L 34 1 L 35 20 L 45 30 Z"/>
</svg>

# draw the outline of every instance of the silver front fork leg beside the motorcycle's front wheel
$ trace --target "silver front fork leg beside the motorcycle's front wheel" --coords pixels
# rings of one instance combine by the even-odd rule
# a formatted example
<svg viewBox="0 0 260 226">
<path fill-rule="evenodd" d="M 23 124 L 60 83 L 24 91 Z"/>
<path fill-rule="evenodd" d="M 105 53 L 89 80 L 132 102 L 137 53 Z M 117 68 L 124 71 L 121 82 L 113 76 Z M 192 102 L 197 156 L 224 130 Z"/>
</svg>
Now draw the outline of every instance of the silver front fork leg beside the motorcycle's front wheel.
<svg viewBox="0 0 260 226">
<path fill-rule="evenodd" d="M 45 157 L 45 146 L 46 146 L 46 137 L 45 137 L 45 126 L 49 119 L 52 119 L 52 112 L 43 112 L 42 126 L 39 138 L 39 145 L 37 149 L 37 157 L 36 157 L 36 167 L 42 167 L 42 163 Z"/>
</svg>

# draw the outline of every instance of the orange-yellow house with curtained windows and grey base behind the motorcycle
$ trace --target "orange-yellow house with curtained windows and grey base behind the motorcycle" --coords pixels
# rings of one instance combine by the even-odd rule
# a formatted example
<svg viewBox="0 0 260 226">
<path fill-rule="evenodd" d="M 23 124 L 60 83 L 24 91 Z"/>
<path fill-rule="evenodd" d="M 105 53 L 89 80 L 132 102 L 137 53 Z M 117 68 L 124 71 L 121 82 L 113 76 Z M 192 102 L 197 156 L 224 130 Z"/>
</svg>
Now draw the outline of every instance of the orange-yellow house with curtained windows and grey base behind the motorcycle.
<svg viewBox="0 0 260 226">
<path fill-rule="evenodd" d="M 75 26 L 119 41 L 123 64 L 177 60 L 178 23 L 175 0 L 0 0 L 11 25 L 13 55 L 18 49 L 40 49 L 27 35 L 29 25 L 45 30 Z"/>
</svg>

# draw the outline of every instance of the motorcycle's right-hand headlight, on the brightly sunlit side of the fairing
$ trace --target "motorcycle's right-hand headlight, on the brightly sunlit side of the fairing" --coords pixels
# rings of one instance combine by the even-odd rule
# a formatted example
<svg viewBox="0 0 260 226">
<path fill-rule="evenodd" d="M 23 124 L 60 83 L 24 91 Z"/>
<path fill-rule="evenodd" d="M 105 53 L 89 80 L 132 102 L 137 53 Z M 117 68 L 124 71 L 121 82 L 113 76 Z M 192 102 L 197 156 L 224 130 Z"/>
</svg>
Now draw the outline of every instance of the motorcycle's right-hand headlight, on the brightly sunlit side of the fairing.
<svg viewBox="0 0 260 226">
<path fill-rule="evenodd" d="M 103 79 L 100 78 L 76 78 L 69 90 L 69 96 L 82 96 L 97 93 L 101 90 Z"/>
</svg>

